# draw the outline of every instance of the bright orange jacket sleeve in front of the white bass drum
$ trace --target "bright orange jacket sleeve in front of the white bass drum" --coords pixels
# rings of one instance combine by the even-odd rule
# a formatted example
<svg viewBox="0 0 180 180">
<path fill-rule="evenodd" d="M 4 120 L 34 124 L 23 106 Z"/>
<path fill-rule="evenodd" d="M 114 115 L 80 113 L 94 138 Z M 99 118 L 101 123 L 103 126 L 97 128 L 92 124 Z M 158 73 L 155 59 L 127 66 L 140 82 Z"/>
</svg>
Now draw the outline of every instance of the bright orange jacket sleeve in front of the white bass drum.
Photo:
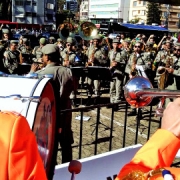
<svg viewBox="0 0 180 180">
<path fill-rule="evenodd" d="M 0 179 L 47 179 L 27 120 L 12 112 L 0 112 Z"/>
</svg>

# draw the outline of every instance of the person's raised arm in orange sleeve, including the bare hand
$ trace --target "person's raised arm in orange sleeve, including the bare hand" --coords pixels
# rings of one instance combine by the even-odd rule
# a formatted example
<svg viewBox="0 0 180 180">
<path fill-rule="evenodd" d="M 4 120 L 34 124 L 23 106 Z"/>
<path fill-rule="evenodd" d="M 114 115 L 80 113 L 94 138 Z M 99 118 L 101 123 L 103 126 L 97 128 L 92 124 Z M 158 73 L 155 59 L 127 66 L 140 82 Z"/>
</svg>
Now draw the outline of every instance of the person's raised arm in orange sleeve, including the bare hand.
<svg viewBox="0 0 180 180">
<path fill-rule="evenodd" d="M 158 129 L 133 159 L 120 170 L 115 180 L 161 180 L 165 179 L 162 174 L 166 170 L 171 174 L 169 180 L 178 180 L 180 168 L 170 165 L 179 148 L 180 98 L 177 98 L 166 107 L 161 129 Z"/>
</svg>

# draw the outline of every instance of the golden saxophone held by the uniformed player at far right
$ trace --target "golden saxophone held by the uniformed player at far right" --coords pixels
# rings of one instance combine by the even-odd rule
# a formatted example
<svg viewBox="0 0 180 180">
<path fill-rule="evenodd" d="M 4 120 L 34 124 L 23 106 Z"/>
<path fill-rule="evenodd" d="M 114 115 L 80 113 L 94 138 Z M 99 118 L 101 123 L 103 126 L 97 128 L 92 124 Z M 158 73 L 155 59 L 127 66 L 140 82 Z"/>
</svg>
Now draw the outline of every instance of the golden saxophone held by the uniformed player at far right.
<svg viewBox="0 0 180 180">
<path fill-rule="evenodd" d="M 165 89 L 168 80 L 169 73 L 166 68 L 170 68 L 173 65 L 173 58 L 171 56 L 166 57 L 165 66 L 160 66 L 157 69 L 157 73 L 160 75 L 158 80 L 158 88 Z"/>
</svg>

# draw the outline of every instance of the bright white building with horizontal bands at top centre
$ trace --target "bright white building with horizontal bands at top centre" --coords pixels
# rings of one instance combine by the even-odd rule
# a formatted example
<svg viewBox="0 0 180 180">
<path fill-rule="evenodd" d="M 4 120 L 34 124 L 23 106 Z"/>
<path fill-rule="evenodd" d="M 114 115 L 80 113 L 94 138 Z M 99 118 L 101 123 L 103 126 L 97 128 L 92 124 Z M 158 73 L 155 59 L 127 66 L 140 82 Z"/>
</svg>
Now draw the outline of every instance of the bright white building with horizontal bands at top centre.
<svg viewBox="0 0 180 180">
<path fill-rule="evenodd" d="M 88 19 L 99 24 L 109 22 L 123 22 L 129 19 L 130 0 L 89 0 Z"/>
</svg>

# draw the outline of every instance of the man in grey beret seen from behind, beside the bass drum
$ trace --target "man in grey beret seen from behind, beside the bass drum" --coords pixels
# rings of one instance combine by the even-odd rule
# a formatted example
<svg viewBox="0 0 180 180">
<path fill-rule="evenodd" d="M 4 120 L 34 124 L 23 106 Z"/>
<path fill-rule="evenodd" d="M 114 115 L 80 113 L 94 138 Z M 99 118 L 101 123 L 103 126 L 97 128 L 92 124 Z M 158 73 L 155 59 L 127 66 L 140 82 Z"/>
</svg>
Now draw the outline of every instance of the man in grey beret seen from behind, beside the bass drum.
<svg viewBox="0 0 180 180">
<path fill-rule="evenodd" d="M 59 110 L 71 109 L 70 94 L 73 90 L 73 77 L 70 68 L 59 66 L 59 49 L 54 44 L 47 44 L 42 48 L 43 63 L 45 68 L 36 71 L 37 64 L 33 64 L 31 73 L 39 76 L 46 74 L 54 75 L 54 80 L 59 91 Z M 58 97 L 57 97 L 58 99 Z M 71 130 L 72 112 L 63 113 L 59 120 L 58 140 L 62 148 L 62 163 L 72 160 L 73 133 Z"/>
</svg>

